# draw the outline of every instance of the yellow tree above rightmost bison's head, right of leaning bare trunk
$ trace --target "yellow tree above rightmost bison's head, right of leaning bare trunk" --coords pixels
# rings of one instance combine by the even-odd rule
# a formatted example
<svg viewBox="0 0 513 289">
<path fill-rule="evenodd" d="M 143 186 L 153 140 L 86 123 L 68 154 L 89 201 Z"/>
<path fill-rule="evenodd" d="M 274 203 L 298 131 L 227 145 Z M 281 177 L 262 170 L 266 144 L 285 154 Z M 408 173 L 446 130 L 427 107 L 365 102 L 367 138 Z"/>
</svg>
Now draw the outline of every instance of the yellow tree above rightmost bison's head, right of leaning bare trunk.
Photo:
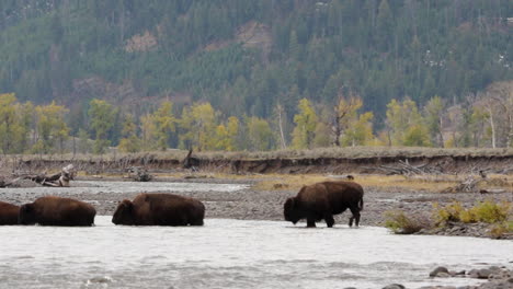
<svg viewBox="0 0 513 289">
<path fill-rule="evenodd" d="M 293 130 L 293 147 L 310 148 L 317 126 L 317 114 L 307 99 L 300 100 L 297 108 L 299 113 L 294 116 L 296 127 Z"/>
</svg>

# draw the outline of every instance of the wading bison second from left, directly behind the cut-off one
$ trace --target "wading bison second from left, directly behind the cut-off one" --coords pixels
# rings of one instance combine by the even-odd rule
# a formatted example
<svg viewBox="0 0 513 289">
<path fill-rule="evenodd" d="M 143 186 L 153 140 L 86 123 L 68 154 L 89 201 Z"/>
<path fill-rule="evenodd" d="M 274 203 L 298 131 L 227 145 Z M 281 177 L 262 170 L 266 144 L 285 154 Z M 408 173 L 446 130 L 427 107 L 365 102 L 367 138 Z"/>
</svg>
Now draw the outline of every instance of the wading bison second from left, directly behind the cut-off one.
<svg viewBox="0 0 513 289">
<path fill-rule="evenodd" d="M 92 226 L 93 206 L 70 198 L 46 196 L 20 208 L 19 223 L 42 226 Z"/>
</svg>

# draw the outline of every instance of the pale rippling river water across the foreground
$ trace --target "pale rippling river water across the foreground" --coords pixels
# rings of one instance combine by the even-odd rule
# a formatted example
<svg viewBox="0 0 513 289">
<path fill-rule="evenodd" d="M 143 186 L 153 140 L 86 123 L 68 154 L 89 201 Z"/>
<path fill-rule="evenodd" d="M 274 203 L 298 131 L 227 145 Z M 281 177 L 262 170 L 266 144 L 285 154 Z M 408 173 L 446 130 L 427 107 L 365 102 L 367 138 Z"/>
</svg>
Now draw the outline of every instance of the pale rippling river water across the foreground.
<svg viewBox="0 0 513 289">
<path fill-rule="evenodd" d="M 383 288 L 449 269 L 505 265 L 513 242 L 394 235 L 381 228 L 306 229 L 206 219 L 204 227 L 0 227 L 0 288 Z"/>
</svg>

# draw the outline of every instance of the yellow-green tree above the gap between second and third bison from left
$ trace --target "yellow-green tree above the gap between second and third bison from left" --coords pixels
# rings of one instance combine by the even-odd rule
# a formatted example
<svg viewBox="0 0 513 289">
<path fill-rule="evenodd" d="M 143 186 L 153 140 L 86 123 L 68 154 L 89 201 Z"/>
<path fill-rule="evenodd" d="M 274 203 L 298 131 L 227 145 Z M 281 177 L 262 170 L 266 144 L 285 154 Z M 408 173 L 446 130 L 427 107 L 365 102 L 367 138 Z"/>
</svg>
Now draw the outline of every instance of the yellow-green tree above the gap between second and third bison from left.
<svg viewBox="0 0 513 289">
<path fill-rule="evenodd" d="M 90 127 L 94 131 L 94 153 L 103 153 L 111 144 L 109 134 L 114 127 L 115 108 L 106 101 L 94 99 L 89 103 Z"/>
</svg>

